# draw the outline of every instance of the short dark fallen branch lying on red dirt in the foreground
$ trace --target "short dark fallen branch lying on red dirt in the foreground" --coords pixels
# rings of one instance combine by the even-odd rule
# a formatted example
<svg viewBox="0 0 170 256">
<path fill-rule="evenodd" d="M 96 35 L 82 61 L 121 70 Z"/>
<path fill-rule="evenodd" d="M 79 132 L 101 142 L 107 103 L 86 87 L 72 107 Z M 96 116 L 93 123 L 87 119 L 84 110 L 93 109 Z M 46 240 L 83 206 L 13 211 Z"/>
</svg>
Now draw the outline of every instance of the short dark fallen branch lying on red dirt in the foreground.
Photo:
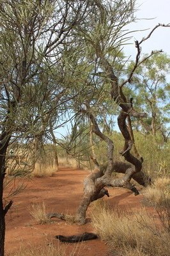
<svg viewBox="0 0 170 256">
<path fill-rule="evenodd" d="M 61 236 L 61 235 L 59 235 L 59 236 L 55 236 L 55 238 L 59 239 L 59 241 L 61 241 L 63 243 L 79 243 L 81 241 L 97 239 L 98 236 L 97 236 L 97 234 L 86 232 L 84 234 L 77 235 L 77 236 Z"/>
</svg>

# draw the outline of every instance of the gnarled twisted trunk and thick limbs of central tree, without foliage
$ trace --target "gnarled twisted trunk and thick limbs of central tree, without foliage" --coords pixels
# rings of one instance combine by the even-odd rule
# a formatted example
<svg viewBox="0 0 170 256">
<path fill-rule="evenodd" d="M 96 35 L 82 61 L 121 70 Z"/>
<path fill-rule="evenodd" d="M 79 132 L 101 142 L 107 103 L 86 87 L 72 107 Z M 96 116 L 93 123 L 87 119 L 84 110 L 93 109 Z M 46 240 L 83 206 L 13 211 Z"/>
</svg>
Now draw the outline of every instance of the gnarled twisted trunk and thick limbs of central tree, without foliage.
<svg viewBox="0 0 170 256">
<path fill-rule="evenodd" d="M 111 81 L 111 97 L 122 109 L 120 115 L 118 116 L 118 125 L 120 127 L 121 134 L 125 139 L 125 145 L 120 154 L 121 156 L 125 157 L 125 160 L 128 161 L 128 163 L 114 163 L 113 141 L 100 131 L 97 120 L 95 119 L 95 116 L 93 116 L 93 114 L 91 113 L 90 106 L 86 104 L 86 108 L 81 109 L 81 113 L 89 117 L 89 120 L 93 124 L 93 132 L 102 140 L 104 140 L 105 143 L 107 143 L 107 165 L 105 166 L 105 172 L 103 172 L 102 165 L 98 164 L 97 160 L 93 159 L 92 157 L 95 165 L 98 166 L 98 170 L 95 173 L 91 173 L 91 175 L 89 175 L 84 180 L 84 195 L 75 214 L 75 222 L 79 224 L 84 224 L 86 222 L 86 211 L 91 202 L 97 200 L 98 198 L 101 198 L 104 195 L 109 196 L 107 189 L 105 189 L 106 186 L 127 188 L 130 189 L 130 191 L 132 191 L 134 195 L 139 195 L 139 191 L 137 191 L 135 186 L 130 183 L 132 177 L 137 180 L 139 184 L 146 186 L 146 180 L 144 180 L 144 173 L 141 172 L 143 158 L 141 157 L 140 159 L 137 159 L 137 157 L 130 154 L 133 141 L 131 140 L 130 133 L 128 132 L 126 124 L 127 116 L 132 115 L 135 117 L 145 117 L 146 113 L 137 113 L 136 111 L 134 111 L 132 106 L 132 100 L 130 100 L 130 102 L 127 102 L 127 99 L 123 94 L 123 91 L 121 90 L 121 86 L 118 86 L 118 79 L 114 75 L 111 65 L 104 58 L 104 56 L 102 56 L 102 54 L 99 54 L 99 56 L 102 67 L 104 67 L 105 73 Z M 114 171 L 125 173 L 125 175 L 121 179 L 113 179 L 112 172 Z M 59 218 L 59 214 L 54 212 L 52 214 L 49 214 L 49 217 Z"/>
</svg>

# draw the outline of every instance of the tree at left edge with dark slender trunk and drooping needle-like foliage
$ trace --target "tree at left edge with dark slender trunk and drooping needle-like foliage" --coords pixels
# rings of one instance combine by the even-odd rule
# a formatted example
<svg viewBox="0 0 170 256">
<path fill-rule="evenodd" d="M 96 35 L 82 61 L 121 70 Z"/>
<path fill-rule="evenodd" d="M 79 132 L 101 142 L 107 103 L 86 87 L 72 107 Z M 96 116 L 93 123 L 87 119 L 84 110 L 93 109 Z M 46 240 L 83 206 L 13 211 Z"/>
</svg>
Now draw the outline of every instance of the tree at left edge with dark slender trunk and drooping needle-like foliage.
<svg viewBox="0 0 170 256">
<path fill-rule="evenodd" d="M 90 3 L 89 3 L 90 2 Z M 65 115 L 70 86 L 68 58 L 73 52 L 73 29 L 85 24 L 91 1 L 7 0 L 0 4 L 0 255 L 4 255 L 5 215 L 3 184 L 8 148 L 12 143 L 41 142 Z M 67 46 L 68 45 L 68 46 Z M 72 54 L 72 55 L 71 55 Z M 61 124 L 56 124 L 58 127 Z M 22 145 L 23 145 L 22 144 Z"/>
</svg>

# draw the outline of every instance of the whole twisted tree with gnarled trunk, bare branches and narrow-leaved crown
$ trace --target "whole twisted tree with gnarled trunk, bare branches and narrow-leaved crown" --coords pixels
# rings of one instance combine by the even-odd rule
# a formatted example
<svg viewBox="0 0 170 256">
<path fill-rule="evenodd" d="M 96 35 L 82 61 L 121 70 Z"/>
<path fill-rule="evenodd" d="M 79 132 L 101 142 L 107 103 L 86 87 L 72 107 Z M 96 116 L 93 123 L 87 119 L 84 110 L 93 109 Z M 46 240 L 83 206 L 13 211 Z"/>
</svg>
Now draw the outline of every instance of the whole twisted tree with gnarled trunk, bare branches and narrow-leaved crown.
<svg viewBox="0 0 170 256">
<path fill-rule="evenodd" d="M 138 195 L 139 191 L 130 183 L 132 177 L 143 186 L 146 186 L 150 182 L 149 177 L 146 177 L 142 171 L 143 158 L 137 158 L 130 152 L 133 141 L 126 124 L 126 120 L 130 116 L 146 118 L 147 114 L 139 113 L 134 109 L 133 99 L 127 99 L 123 88 L 126 84 L 131 83 L 137 67 L 154 54 L 160 52 L 152 51 L 151 54 L 142 58 L 141 44 L 151 36 L 158 26 L 165 26 L 158 24 L 148 36 L 144 37 L 141 41 L 135 42 L 137 49 L 136 60 L 129 70 L 127 79 L 123 79 L 121 75 L 123 72 L 124 74 L 127 73 L 125 71 L 125 61 L 124 65 L 122 60 L 120 63 L 118 52 L 121 51 L 121 47 L 125 43 L 125 40 L 127 40 L 126 36 L 128 32 L 125 31 L 125 26 L 134 20 L 135 2 L 115 1 L 111 3 L 110 1 L 105 1 L 103 3 L 102 1 L 95 1 L 95 3 L 97 5 L 93 8 L 91 23 L 89 22 L 90 27 L 79 28 L 77 31 L 77 36 L 81 36 L 81 39 L 84 40 L 84 52 L 81 56 L 83 58 L 86 56 L 84 60 L 91 67 L 91 72 L 87 74 L 88 77 L 91 77 L 91 83 L 88 83 L 87 86 L 87 83 L 84 81 L 83 86 L 86 88 L 84 90 L 86 95 L 80 95 L 80 99 L 76 100 L 76 104 L 78 106 L 77 112 L 79 111 L 83 118 L 89 118 L 93 124 L 93 132 L 101 140 L 105 141 L 107 145 L 107 164 L 103 166 L 98 161 L 95 161 L 97 167 L 96 172 L 84 180 L 84 196 L 75 214 L 75 222 L 81 224 L 86 222 L 86 211 L 89 204 L 104 195 L 108 195 L 105 186 L 120 186 L 130 189 L 135 195 Z M 82 61 L 83 58 L 81 58 Z M 121 64 L 120 70 L 117 68 L 118 63 Z M 125 140 L 125 145 L 120 154 L 128 163 L 114 161 L 114 143 L 109 136 L 100 131 L 98 126 L 97 116 L 100 113 L 100 106 L 104 104 L 104 99 L 107 98 L 106 95 L 108 93 L 111 94 L 111 99 L 121 109 L 118 116 L 118 125 Z M 122 179 L 113 179 L 111 176 L 112 172 L 122 172 L 125 175 Z M 49 214 L 49 217 L 57 217 L 65 220 L 65 215 L 58 214 L 58 212 Z"/>
</svg>

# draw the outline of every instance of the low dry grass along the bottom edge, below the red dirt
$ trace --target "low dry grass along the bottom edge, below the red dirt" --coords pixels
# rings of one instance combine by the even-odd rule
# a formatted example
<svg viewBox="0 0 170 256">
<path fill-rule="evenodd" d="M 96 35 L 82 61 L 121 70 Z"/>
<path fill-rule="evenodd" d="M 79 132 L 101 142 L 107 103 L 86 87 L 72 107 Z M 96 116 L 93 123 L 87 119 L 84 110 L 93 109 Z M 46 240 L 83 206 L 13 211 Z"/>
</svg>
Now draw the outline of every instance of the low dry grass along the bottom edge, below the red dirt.
<svg viewBox="0 0 170 256">
<path fill-rule="evenodd" d="M 29 246 L 29 248 L 21 248 L 16 253 L 10 253 L 8 256 L 77 256 L 77 248 L 73 248 L 73 251 L 66 252 L 66 246 L 54 246 L 50 244 L 49 246 L 39 245 L 39 246 Z"/>
</svg>

